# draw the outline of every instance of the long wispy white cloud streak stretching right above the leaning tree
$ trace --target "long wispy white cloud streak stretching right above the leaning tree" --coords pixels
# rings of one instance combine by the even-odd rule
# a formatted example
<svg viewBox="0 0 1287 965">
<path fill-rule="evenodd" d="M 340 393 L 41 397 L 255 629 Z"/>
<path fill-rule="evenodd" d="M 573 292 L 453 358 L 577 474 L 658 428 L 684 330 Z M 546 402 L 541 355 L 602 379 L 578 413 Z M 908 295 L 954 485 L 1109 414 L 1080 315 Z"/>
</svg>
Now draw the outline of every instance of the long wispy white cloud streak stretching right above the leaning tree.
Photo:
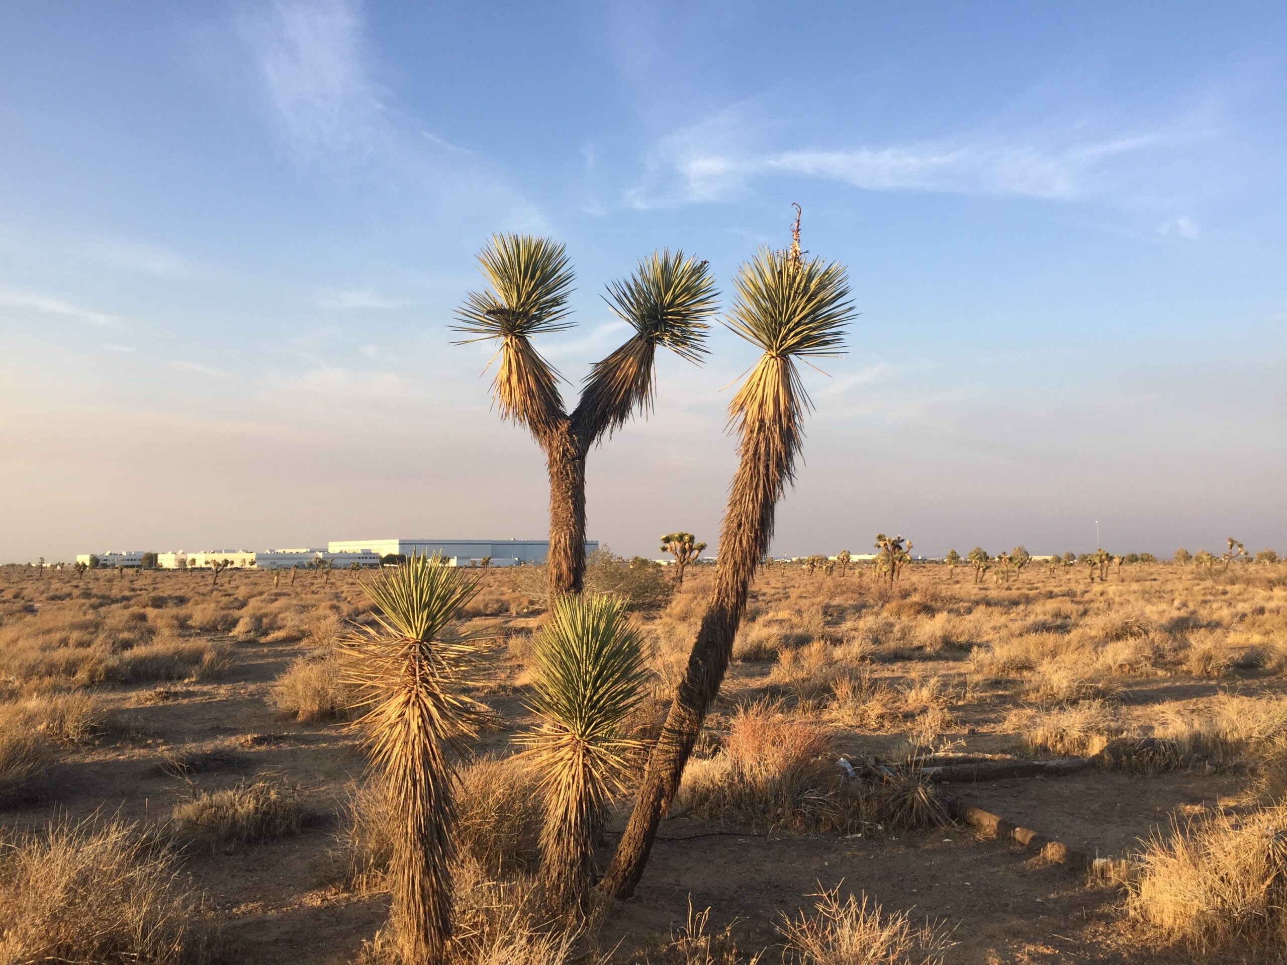
<svg viewBox="0 0 1287 965">
<path fill-rule="evenodd" d="M 1120 130 L 1048 122 L 911 143 L 775 151 L 764 144 L 772 139 L 768 127 L 735 108 L 668 134 L 646 158 L 649 176 L 627 192 L 627 203 L 650 208 L 727 201 L 772 175 L 864 190 L 1073 201 L 1127 190 L 1160 157 L 1214 134 L 1208 124 L 1187 120 Z"/>
</svg>

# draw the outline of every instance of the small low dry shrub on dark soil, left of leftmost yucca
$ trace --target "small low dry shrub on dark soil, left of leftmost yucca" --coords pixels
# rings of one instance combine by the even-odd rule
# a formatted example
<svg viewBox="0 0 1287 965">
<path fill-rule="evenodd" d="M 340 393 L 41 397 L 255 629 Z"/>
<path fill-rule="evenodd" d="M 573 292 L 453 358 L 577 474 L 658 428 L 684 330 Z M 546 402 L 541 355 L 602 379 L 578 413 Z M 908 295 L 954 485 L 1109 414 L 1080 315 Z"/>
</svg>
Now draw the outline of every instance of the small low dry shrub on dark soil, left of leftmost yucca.
<svg viewBox="0 0 1287 965">
<path fill-rule="evenodd" d="M 218 791 L 197 791 L 174 805 L 171 820 L 180 834 L 212 844 L 259 844 L 299 834 L 305 814 L 299 785 L 261 777 Z"/>
</svg>

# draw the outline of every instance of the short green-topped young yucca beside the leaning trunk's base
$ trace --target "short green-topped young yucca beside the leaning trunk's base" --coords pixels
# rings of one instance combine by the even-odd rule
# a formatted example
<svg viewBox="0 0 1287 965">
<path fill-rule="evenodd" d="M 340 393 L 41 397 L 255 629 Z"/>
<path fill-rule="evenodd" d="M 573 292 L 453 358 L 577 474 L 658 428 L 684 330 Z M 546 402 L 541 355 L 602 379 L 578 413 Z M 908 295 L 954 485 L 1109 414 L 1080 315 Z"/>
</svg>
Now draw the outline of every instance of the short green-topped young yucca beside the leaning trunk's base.
<svg viewBox="0 0 1287 965">
<path fill-rule="evenodd" d="M 544 791 L 542 874 L 561 907 L 586 910 L 604 809 L 641 749 L 622 723 L 646 677 L 642 636 L 620 597 L 564 596 L 537 634 L 529 706 L 542 723 L 519 742 Z"/>
</svg>

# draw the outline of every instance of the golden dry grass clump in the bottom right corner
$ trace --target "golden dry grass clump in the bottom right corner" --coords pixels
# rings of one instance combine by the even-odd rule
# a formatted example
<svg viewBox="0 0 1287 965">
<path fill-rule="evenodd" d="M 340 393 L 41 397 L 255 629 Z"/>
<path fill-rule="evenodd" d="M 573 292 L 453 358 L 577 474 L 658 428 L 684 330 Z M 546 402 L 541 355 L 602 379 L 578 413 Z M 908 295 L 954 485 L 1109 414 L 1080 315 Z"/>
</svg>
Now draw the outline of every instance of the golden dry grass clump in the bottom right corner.
<svg viewBox="0 0 1287 965">
<path fill-rule="evenodd" d="M 1154 838 L 1130 912 L 1202 955 L 1282 953 L 1287 939 L 1287 808 L 1265 808 Z"/>
</svg>

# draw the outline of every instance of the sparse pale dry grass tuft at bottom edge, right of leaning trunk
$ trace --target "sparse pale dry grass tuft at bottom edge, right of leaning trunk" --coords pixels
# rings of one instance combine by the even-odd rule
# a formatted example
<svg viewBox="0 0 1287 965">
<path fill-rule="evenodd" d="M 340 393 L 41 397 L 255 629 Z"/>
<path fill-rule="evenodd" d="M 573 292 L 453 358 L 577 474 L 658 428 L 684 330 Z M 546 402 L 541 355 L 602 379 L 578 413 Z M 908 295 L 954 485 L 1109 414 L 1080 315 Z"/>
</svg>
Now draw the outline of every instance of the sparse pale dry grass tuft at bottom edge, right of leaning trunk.
<svg viewBox="0 0 1287 965">
<path fill-rule="evenodd" d="M 784 956 L 801 965 L 941 965 L 956 944 L 937 923 L 912 925 L 906 912 L 883 914 L 864 894 L 840 901 L 840 885 L 815 896 L 813 914 L 784 917 Z"/>
</svg>

